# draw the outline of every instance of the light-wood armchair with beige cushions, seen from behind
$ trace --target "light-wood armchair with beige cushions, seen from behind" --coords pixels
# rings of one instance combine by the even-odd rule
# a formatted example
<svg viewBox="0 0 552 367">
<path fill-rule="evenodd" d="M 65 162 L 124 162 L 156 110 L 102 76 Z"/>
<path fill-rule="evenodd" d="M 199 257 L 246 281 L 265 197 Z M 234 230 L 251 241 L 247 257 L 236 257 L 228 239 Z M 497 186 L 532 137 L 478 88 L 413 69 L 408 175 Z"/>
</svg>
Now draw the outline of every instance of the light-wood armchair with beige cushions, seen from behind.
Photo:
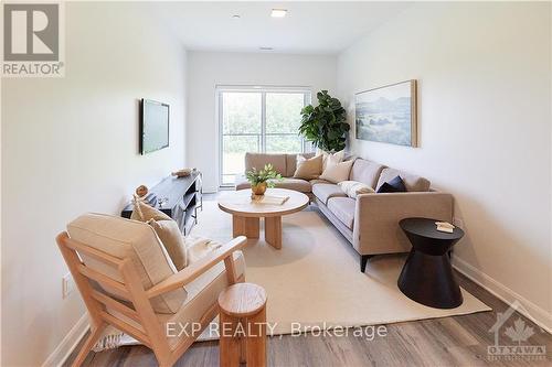
<svg viewBox="0 0 552 367">
<path fill-rule="evenodd" d="M 245 279 L 243 236 L 176 271 L 147 224 L 87 214 L 67 230 L 56 241 L 91 319 L 91 335 L 73 366 L 85 360 L 107 325 L 151 348 L 160 366 L 172 366 L 217 315 L 220 291 Z M 169 323 L 195 326 L 171 337 Z"/>
</svg>

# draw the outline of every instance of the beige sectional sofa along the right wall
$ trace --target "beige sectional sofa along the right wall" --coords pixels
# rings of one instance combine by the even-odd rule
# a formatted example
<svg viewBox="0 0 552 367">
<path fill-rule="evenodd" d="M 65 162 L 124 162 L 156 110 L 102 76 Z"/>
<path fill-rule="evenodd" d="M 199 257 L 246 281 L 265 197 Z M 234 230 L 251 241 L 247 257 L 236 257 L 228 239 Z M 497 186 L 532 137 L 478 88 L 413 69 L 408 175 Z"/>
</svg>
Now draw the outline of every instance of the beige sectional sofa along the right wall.
<svg viewBox="0 0 552 367">
<path fill-rule="evenodd" d="M 247 153 L 245 168 L 259 169 L 272 163 L 284 176 L 276 186 L 309 194 L 320 212 L 360 253 L 362 272 L 372 256 L 410 251 L 411 245 L 399 227 L 399 220 L 406 217 L 427 217 L 449 223 L 453 220 L 453 196 L 432 190 L 427 179 L 369 160 L 355 159 L 349 180 L 362 182 L 378 191 L 384 182 L 400 175 L 407 192 L 361 194 L 351 198 L 337 184 L 323 180 L 293 179 L 296 159 L 297 154 Z M 238 177 L 236 190 L 248 187 L 245 177 Z"/>
</svg>

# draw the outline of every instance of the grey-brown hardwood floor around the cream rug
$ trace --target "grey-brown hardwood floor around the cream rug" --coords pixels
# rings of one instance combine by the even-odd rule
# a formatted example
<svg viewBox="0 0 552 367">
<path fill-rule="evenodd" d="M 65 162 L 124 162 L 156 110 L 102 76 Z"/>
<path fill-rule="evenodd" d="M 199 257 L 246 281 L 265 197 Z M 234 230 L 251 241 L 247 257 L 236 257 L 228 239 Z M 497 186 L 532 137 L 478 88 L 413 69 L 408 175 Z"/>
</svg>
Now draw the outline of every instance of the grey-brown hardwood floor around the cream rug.
<svg viewBox="0 0 552 367">
<path fill-rule="evenodd" d="M 386 325 L 388 335 L 368 341 L 353 335 L 268 338 L 268 366 L 552 366 L 552 336 L 521 314 L 532 335 L 522 345 L 543 345 L 544 360 L 488 360 L 487 346 L 493 344 L 489 328 L 497 312 L 508 305 L 467 278 L 457 274 L 460 285 L 492 307 L 492 312 L 404 322 Z M 508 341 L 501 331 L 501 339 Z M 70 366 L 75 353 L 65 363 Z M 144 346 L 91 353 L 84 366 L 157 366 L 153 353 Z M 217 342 L 195 343 L 176 366 L 219 366 Z"/>
</svg>

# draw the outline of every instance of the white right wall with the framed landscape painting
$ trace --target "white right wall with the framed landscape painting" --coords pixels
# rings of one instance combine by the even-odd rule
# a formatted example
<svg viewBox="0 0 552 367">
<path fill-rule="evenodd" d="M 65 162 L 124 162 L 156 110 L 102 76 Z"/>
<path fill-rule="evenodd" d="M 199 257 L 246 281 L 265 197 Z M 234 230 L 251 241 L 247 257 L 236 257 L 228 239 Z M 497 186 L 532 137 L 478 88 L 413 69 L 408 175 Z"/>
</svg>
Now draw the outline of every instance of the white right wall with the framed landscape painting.
<svg viewBox="0 0 552 367">
<path fill-rule="evenodd" d="M 457 266 L 552 327 L 550 3 L 421 3 L 346 50 L 339 96 L 418 80 L 420 148 L 357 154 L 456 198 Z"/>
</svg>

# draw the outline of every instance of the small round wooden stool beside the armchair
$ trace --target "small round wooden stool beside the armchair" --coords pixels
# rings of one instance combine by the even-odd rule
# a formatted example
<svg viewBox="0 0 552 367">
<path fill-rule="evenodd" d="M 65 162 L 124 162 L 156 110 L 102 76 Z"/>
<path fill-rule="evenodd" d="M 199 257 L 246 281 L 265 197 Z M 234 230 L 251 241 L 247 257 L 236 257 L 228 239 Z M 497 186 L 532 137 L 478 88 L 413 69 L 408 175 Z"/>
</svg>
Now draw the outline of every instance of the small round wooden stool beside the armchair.
<svg viewBox="0 0 552 367">
<path fill-rule="evenodd" d="M 252 283 L 230 285 L 219 295 L 220 361 L 223 367 L 266 366 L 266 292 Z"/>
</svg>

